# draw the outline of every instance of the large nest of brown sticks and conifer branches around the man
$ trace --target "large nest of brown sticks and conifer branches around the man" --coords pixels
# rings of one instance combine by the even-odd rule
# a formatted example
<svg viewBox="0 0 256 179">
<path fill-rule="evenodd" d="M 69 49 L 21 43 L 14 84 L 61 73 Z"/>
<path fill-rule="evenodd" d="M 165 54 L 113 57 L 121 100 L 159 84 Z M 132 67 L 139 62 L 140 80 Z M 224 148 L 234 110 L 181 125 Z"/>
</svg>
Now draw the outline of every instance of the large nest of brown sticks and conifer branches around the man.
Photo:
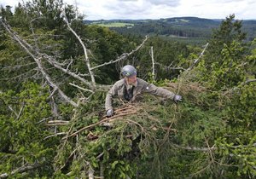
<svg viewBox="0 0 256 179">
<path fill-rule="evenodd" d="M 197 95 L 206 91 L 199 84 L 169 83 L 165 88 L 175 93 L 178 90 L 183 95 L 183 103 L 199 101 Z M 114 99 L 114 113 L 110 118 L 101 107 L 103 101 L 102 105 L 95 102 L 95 107 L 86 113 L 86 106 L 78 108 L 62 138 L 64 142 L 56 163 L 61 164 L 63 158 L 67 160 L 56 168 L 66 169 L 71 159 L 87 161 L 84 167 L 88 170 L 88 164 L 109 165 L 112 158 L 131 161 L 138 156 L 157 156 L 155 153 L 165 150 L 166 146 L 173 147 L 172 139 L 179 133 L 177 126 L 183 120 L 183 103 L 175 104 L 154 95 L 144 95 L 141 101 L 132 103 Z"/>
</svg>

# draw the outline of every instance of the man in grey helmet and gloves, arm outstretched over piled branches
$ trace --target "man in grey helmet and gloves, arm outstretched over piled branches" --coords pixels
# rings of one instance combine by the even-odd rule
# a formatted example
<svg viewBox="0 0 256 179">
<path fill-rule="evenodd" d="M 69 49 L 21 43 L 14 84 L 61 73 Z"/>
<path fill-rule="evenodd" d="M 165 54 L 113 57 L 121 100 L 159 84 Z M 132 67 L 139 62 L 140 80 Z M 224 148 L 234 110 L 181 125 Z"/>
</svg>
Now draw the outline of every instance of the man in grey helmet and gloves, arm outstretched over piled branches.
<svg viewBox="0 0 256 179">
<path fill-rule="evenodd" d="M 108 91 L 108 95 L 106 96 L 105 108 L 108 117 L 113 115 L 112 101 L 116 95 L 125 101 L 135 101 L 137 96 L 143 93 L 159 95 L 167 99 L 172 99 L 174 102 L 182 100 L 181 95 L 175 95 L 169 90 L 157 87 L 154 84 L 148 84 L 143 79 L 137 78 L 137 70 L 134 66 L 124 66 L 121 74 L 124 78 L 113 84 L 113 87 Z"/>
</svg>

